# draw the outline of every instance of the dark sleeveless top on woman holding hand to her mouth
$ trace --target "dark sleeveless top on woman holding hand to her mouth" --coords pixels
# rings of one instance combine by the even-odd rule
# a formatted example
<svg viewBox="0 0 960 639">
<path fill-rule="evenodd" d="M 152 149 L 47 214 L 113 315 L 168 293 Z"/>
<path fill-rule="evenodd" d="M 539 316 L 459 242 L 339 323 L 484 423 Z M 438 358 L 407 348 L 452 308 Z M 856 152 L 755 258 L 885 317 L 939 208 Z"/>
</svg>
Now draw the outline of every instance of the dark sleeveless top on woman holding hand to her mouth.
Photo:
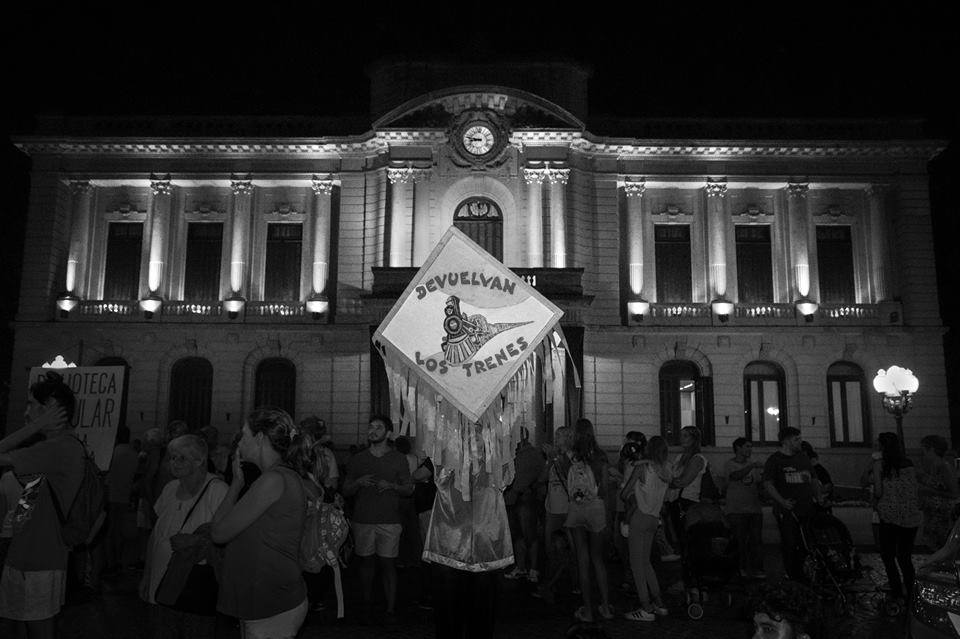
<svg viewBox="0 0 960 639">
<path fill-rule="evenodd" d="M 240 619 L 266 619 L 307 598 L 300 570 L 306 497 L 300 476 L 285 466 L 283 494 L 227 543 L 217 610 Z"/>
</svg>

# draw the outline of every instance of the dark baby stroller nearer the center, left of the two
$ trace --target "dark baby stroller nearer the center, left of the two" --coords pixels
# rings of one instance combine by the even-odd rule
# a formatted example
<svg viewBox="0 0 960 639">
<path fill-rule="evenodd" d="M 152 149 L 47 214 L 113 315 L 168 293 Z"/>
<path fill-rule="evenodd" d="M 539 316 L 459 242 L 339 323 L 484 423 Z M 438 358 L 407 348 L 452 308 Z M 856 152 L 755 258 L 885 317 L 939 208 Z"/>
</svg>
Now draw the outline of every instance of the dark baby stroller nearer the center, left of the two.
<svg viewBox="0 0 960 639">
<path fill-rule="evenodd" d="M 739 565 L 736 540 L 716 504 L 691 506 L 684 517 L 684 531 L 684 572 L 689 580 L 687 616 L 700 619 L 707 591 L 724 590 L 727 606 L 733 602 L 727 586 Z"/>
</svg>

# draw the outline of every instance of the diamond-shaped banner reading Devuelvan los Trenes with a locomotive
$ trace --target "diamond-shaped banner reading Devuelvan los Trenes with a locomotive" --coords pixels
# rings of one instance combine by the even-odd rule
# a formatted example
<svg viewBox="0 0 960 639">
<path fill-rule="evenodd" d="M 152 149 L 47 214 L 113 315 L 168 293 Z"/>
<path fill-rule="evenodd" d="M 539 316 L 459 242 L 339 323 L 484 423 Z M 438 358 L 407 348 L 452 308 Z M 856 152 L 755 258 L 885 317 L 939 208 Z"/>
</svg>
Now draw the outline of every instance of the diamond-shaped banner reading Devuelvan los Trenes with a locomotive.
<svg viewBox="0 0 960 639">
<path fill-rule="evenodd" d="M 374 333 L 479 421 L 563 311 L 451 227 Z"/>
</svg>

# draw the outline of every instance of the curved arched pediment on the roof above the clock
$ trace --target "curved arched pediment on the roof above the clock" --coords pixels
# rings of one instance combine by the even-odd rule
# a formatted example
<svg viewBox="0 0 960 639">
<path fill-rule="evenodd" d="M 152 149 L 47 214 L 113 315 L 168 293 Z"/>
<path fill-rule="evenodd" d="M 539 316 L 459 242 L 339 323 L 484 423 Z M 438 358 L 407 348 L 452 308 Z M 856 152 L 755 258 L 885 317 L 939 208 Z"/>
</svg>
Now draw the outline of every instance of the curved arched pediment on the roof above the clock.
<svg viewBox="0 0 960 639">
<path fill-rule="evenodd" d="M 451 87 L 408 100 L 373 123 L 373 129 L 446 128 L 464 111 L 490 109 L 513 129 L 574 129 L 585 126 L 563 107 L 522 91 L 492 85 Z"/>
</svg>

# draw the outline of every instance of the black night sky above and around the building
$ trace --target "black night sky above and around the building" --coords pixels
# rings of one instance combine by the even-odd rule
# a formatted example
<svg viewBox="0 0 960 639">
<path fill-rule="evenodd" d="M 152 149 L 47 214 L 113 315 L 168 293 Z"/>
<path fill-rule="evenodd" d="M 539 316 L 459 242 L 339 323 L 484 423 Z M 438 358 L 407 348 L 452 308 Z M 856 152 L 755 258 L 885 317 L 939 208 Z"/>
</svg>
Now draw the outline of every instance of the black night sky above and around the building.
<svg viewBox="0 0 960 639">
<path fill-rule="evenodd" d="M 155 4 L 137 14 L 129 3 L 5 12 L 4 326 L 15 313 L 29 184 L 29 162 L 9 135 L 29 133 L 38 115 L 363 116 L 363 68 L 383 56 L 561 58 L 592 66 L 595 116 L 919 118 L 929 137 L 957 137 L 960 21 L 953 3 L 929 11 L 792 3 L 790 13 L 732 4 L 678 3 L 682 9 L 661 12 L 584 3 L 605 9 L 589 14 L 550 3 L 431 9 L 395 2 L 282 15 L 239 4 L 198 15 L 191 8 L 198 4 Z M 960 285 L 960 269 L 945 257 L 960 237 L 950 192 L 956 158 L 954 144 L 933 167 L 944 292 Z M 957 326 L 955 303 L 947 303 L 944 316 Z M 0 335 L 0 380 L 9 369 L 8 340 L 9 332 Z M 960 360 L 955 337 L 948 340 L 955 349 L 948 360 Z M 0 425 L 4 415 L 0 407 Z"/>
</svg>

